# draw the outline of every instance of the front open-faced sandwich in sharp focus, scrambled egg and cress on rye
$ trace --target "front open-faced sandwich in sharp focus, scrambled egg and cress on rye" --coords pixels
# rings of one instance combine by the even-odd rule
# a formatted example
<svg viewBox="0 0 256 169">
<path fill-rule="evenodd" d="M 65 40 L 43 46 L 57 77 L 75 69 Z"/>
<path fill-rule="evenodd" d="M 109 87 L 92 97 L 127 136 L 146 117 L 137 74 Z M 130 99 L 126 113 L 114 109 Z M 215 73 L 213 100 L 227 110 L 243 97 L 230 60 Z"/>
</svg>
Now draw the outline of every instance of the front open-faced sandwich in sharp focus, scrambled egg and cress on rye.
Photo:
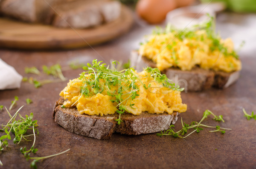
<svg viewBox="0 0 256 169">
<path fill-rule="evenodd" d="M 93 60 L 84 69 L 67 83 L 54 107 L 55 122 L 70 132 L 97 139 L 108 139 L 113 132 L 160 132 L 186 112 L 183 89 L 157 68 L 117 71 Z"/>
</svg>

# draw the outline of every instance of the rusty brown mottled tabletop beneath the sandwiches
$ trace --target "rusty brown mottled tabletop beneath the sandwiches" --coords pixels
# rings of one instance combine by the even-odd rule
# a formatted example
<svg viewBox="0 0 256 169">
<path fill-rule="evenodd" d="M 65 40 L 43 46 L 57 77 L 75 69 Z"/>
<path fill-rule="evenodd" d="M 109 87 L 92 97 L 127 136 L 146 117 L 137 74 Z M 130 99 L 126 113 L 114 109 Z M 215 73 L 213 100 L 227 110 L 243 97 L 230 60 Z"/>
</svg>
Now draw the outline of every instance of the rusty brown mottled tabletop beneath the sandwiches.
<svg viewBox="0 0 256 169">
<path fill-rule="evenodd" d="M 136 32 L 136 26 L 134 30 Z M 70 60 L 88 61 L 101 55 L 107 62 L 128 60 L 129 48 L 125 44 L 118 46 L 120 39 L 114 40 L 93 49 L 78 49 L 62 52 L 26 52 L 0 50 L 0 58 L 14 66 L 23 76 L 37 77 L 24 73 L 25 66 L 36 66 L 41 70 L 42 65 L 51 66 L 60 63 L 66 66 Z M 216 115 L 223 115 L 225 123 L 215 122 L 211 118 L 204 120 L 207 125 L 221 125 L 233 129 L 226 134 L 209 133 L 205 129 L 194 133 L 186 139 L 170 136 L 157 137 L 156 134 L 128 136 L 113 134 L 111 140 L 96 140 L 68 132 L 56 124 L 52 118 L 52 109 L 59 98 L 59 92 L 66 82 L 51 83 L 35 89 L 29 83 L 22 83 L 20 89 L 0 91 L 0 105 L 9 107 L 14 96 L 19 97 L 17 106 L 12 114 L 22 105 L 20 114 L 34 113 L 38 120 L 39 135 L 36 136 L 36 157 L 55 154 L 71 149 L 64 155 L 38 162 L 39 169 L 48 168 L 252 168 L 256 169 L 256 120 L 247 120 L 242 112 L 244 107 L 248 113 L 256 111 L 256 58 L 243 56 L 243 69 L 238 82 L 228 89 L 209 89 L 198 93 L 182 93 L 183 103 L 188 110 L 180 117 L 190 123 L 199 121 L 204 110 L 210 109 Z M 81 69 L 63 72 L 64 76 L 72 79 L 78 76 Z M 51 78 L 42 74 L 41 79 Z M 38 79 L 40 79 L 38 77 Z M 33 103 L 26 105 L 26 98 Z M 0 123 L 9 119 L 6 111 L 0 111 Z M 175 129 L 180 129 L 180 118 Z M 0 135 L 3 135 L 0 132 Z M 9 147 L 0 152 L 0 159 L 7 168 L 29 168 L 20 153 L 20 147 L 30 147 L 31 142 L 23 141 L 14 145 L 9 141 Z M 215 150 L 218 149 L 218 150 Z"/>
</svg>

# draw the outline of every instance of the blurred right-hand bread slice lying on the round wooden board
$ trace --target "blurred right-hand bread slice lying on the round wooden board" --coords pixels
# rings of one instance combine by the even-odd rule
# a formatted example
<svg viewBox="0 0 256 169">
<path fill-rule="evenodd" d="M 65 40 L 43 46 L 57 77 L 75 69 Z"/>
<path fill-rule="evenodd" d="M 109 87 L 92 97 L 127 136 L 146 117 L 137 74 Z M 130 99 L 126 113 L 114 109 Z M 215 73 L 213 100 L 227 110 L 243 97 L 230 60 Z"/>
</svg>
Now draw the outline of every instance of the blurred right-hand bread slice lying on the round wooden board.
<svg viewBox="0 0 256 169">
<path fill-rule="evenodd" d="M 52 25 L 62 28 L 87 28 L 119 17 L 121 4 L 111 0 L 73 0 L 53 6 Z"/>
</svg>

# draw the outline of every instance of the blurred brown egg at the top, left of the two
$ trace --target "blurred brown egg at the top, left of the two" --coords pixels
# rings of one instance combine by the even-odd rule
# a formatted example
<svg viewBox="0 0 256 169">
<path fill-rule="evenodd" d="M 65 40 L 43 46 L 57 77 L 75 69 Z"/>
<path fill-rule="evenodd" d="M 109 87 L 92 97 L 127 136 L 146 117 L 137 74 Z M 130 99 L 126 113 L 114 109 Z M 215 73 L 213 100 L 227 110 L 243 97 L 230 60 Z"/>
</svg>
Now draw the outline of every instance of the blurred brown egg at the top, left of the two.
<svg viewBox="0 0 256 169">
<path fill-rule="evenodd" d="M 137 14 L 148 23 L 161 23 L 166 14 L 177 8 L 176 0 L 139 0 L 136 5 Z"/>
</svg>

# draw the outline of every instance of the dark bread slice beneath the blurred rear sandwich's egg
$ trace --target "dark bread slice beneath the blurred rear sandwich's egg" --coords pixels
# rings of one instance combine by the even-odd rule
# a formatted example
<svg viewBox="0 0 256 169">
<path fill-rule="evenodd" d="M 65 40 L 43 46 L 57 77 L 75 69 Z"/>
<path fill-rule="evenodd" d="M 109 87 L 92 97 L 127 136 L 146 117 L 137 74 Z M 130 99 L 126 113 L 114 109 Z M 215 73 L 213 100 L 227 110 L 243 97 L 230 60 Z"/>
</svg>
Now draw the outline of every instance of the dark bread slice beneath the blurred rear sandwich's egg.
<svg viewBox="0 0 256 169">
<path fill-rule="evenodd" d="M 146 66 L 156 67 L 156 64 L 144 56 L 139 56 L 137 51 L 131 52 L 131 66 L 135 66 L 138 72 L 142 71 Z M 215 72 L 212 70 L 201 69 L 195 67 L 190 71 L 182 71 L 178 68 L 169 68 L 162 73 L 178 84 L 186 91 L 199 92 L 210 87 L 224 89 L 238 80 L 240 72 Z"/>
</svg>

